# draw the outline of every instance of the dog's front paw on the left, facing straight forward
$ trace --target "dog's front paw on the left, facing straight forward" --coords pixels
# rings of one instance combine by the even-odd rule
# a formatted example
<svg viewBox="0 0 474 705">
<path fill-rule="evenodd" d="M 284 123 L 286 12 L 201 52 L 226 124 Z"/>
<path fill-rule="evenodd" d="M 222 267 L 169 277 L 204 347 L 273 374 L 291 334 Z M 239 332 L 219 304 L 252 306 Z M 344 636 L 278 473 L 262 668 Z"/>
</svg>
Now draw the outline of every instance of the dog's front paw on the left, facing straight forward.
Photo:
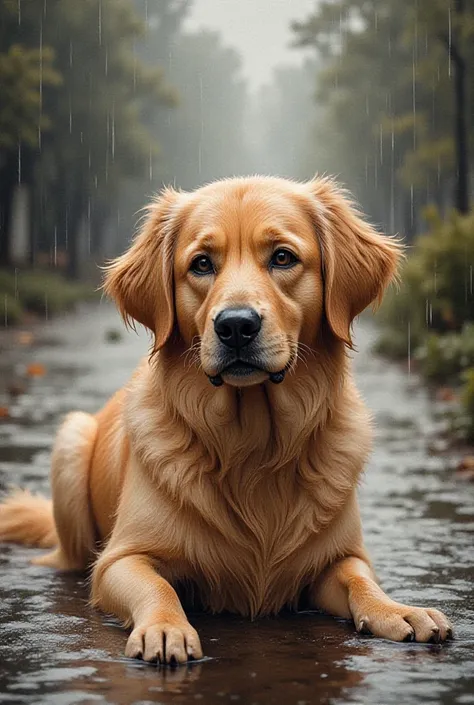
<svg viewBox="0 0 474 705">
<path fill-rule="evenodd" d="M 202 658 L 197 631 L 187 621 L 137 625 L 127 641 L 125 656 L 151 663 L 179 664 Z"/>
</svg>

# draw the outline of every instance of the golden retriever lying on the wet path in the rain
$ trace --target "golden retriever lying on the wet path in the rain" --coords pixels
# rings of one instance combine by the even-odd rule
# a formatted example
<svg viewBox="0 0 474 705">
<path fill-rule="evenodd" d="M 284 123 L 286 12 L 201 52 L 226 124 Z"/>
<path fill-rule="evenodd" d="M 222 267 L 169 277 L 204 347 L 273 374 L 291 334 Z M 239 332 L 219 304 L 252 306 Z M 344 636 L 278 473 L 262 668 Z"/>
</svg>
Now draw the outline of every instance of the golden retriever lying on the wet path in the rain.
<svg viewBox="0 0 474 705">
<path fill-rule="evenodd" d="M 165 189 L 104 284 L 151 331 L 150 356 L 95 416 L 66 418 L 52 502 L 8 497 L 0 539 L 51 547 L 43 566 L 92 566 L 92 603 L 145 661 L 202 657 L 178 593 L 214 613 L 304 605 L 395 641 L 451 638 L 441 612 L 379 587 L 357 502 L 371 418 L 351 324 L 401 255 L 328 178 Z"/>
</svg>

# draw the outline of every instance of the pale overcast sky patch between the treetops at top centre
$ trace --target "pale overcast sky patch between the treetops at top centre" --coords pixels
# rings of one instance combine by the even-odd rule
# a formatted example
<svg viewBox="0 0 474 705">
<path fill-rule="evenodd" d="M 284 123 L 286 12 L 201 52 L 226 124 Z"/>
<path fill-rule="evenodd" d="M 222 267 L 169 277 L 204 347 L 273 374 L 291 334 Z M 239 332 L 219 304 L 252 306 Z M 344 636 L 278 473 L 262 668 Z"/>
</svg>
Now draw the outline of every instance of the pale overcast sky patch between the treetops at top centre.
<svg viewBox="0 0 474 705">
<path fill-rule="evenodd" d="M 292 20 L 304 19 L 315 0 L 194 0 L 186 27 L 221 32 L 239 50 L 251 88 L 266 83 L 278 64 L 301 63 L 304 52 L 291 49 Z"/>
</svg>

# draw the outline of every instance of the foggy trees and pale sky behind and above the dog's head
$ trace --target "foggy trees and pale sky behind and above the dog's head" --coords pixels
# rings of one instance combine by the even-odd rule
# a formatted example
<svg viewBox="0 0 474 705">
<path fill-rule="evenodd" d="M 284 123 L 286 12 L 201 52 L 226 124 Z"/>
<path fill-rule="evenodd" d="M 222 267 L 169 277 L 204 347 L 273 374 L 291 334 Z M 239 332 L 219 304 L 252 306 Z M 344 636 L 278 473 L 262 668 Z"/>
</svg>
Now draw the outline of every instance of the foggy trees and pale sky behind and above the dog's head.
<svg viewBox="0 0 474 705">
<path fill-rule="evenodd" d="M 0 267 L 97 277 L 163 184 L 239 174 L 334 174 L 408 241 L 467 212 L 473 25 L 472 0 L 1 0 Z"/>
</svg>

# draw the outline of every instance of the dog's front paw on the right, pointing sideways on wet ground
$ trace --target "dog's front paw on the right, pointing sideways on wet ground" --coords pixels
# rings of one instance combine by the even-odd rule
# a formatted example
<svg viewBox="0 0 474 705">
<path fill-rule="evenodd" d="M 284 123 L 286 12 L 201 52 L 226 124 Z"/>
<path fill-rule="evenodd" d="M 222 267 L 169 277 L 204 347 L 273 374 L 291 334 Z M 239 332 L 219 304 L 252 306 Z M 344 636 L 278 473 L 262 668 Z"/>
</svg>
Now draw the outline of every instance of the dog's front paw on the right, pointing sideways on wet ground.
<svg viewBox="0 0 474 705">
<path fill-rule="evenodd" d="M 360 633 L 392 641 L 420 641 L 439 643 L 452 639 L 453 628 L 439 610 L 407 607 L 398 602 L 377 602 L 365 605 L 364 612 L 354 614 Z"/>
</svg>

